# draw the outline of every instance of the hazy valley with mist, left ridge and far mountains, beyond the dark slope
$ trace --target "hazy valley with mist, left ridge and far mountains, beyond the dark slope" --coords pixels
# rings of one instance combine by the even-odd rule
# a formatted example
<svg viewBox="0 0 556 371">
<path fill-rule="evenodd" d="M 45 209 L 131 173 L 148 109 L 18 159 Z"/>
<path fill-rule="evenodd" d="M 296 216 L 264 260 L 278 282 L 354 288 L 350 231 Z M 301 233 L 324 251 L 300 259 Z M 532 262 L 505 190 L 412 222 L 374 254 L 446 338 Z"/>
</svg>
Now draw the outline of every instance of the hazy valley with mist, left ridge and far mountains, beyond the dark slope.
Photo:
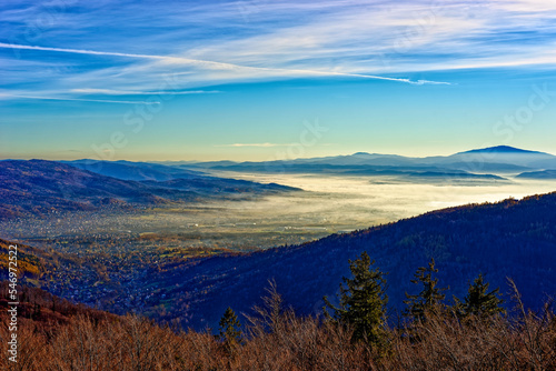
<svg viewBox="0 0 556 371">
<path fill-rule="evenodd" d="M 0 219 L 0 227 L 4 238 L 73 253 L 158 253 L 177 249 L 188 254 L 187 249 L 191 248 L 254 251 L 365 229 L 445 207 L 547 193 L 555 189 L 552 179 L 520 174 L 552 171 L 539 167 L 553 167 L 555 159 L 545 153 L 495 148 L 478 154 L 418 160 L 358 153 L 281 161 L 280 171 L 274 168 L 276 163 L 222 167 L 221 162 L 82 160 L 66 161 L 54 169 L 54 162 L 29 162 L 28 169 L 38 171 L 36 177 L 41 177 L 40 171 L 49 173 L 44 179 L 50 180 L 41 180 L 48 184 L 41 186 L 48 192 L 33 183 L 33 178 L 20 176 L 24 171 L 21 164 L 26 163 L 21 162 L 17 171 L 3 176 L 27 186 L 18 189 L 9 186 L 13 180 L 4 183 L 4 218 Z M 307 167 L 311 163 L 320 164 L 310 170 Z M 0 167 L 7 164 L 0 162 Z M 327 164 L 334 171 L 327 171 Z M 351 173 L 354 167 L 364 173 Z M 454 167 L 460 170 L 454 172 Z M 385 168 L 389 174 L 384 174 Z M 486 168 L 497 172 L 485 173 Z M 418 176 L 423 173 L 426 176 Z M 484 178 L 473 178 L 475 174 Z M 90 183 L 82 179 L 97 182 L 96 195 L 87 190 Z M 21 192 L 26 195 L 19 201 Z M 83 198 L 83 192 L 89 193 Z M 16 199 L 10 208 L 11 197 Z M 10 218 L 10 212 L 24 214 Z"/>
</svg>

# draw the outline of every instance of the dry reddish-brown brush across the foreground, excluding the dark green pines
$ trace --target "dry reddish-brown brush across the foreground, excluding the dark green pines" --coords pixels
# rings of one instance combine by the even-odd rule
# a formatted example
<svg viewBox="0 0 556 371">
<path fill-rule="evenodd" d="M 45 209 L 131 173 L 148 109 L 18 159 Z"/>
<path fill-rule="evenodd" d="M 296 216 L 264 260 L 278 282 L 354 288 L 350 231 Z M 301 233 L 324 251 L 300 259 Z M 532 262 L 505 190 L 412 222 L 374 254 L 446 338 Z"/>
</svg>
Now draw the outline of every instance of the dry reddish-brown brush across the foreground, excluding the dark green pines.
<svg viewBox="0 0 556 371">
<path fill-rule="evenodd" d="M 6 285 L 2 285 L 2 297 Z M 353 343 L 351 331 L 282 310 L 271 292 L 227 344 L 209 332 L 179 331 L 135 315 L 117 317 L 24 289 L 18 363 L 8 361 L 8 319 L 0 314 L 2 370 L 555 370 L 556 319 L 519 304 L 514 317 L 457 319 L 450 310 L 390 329 L 387 348 Z M 6 300 L 1 302 L 6 307 Z"/>
</svg>

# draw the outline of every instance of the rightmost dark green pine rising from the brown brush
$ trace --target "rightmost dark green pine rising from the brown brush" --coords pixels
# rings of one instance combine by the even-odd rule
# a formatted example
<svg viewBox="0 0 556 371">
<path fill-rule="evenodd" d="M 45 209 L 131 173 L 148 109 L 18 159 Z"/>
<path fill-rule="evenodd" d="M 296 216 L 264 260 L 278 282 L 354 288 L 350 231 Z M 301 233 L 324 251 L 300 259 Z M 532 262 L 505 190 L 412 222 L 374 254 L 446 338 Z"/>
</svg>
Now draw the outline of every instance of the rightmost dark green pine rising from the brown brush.
<svg viewBox="0 0 556 371">
<path fill-rule="evenodd" d="M 495 289 L 488 292 L 488 282 L 485 282 L 483 274 L 479 274 L 473 284 L 469 284 L 467 295 L 464 302 L 459 305 L 461 317 L 469 314 L 478 315 L 479 318 L 489 318 L 492 315 L 504 313 L 502 303 L 504 300 L 499 298 L 500 289 Z"/>
</svg>

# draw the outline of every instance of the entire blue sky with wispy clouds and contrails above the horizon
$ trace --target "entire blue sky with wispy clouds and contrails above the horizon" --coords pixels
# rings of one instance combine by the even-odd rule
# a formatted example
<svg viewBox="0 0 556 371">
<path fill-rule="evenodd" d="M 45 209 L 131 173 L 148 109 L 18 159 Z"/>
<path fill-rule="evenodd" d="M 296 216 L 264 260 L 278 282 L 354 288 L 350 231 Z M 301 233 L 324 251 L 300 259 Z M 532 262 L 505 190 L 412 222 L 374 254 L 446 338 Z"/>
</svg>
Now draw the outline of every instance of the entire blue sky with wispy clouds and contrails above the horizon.
<svg viewBox="0 0 556 371">
<path fill-rule="evenodd" d="M 556 153 L 556 2 L 10 1 L 0 158 Z"/>
</svg>

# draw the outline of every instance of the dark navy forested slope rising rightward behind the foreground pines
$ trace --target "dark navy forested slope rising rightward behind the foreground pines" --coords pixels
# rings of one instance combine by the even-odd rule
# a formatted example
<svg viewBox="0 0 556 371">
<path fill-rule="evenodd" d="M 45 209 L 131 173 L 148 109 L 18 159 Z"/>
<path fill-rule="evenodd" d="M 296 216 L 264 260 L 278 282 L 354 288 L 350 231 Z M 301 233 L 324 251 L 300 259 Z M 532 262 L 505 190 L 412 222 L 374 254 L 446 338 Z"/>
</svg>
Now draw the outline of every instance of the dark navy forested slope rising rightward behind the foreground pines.
<svg viewBox="0 0 556 371">
<path fill-rule="evenodd" d="M 483 272 L 504 293 L 507 278 L 514 279 L 524 302 L 538 307 L 556 294 L 556 192 L 438 210 L 301 245 L 167 262 L 146 279 L 163 288 L 163 319 L 180 318 L 186 327 L 201 329 L 215 327 L 228 305 L 249 313 L 268 280 L 276 280 L 298 312 L 318 313 L 322 297 L 334 295 L 341 277 L 349 275 L 348 260 L 363 251 L 388 272 L 393 310 L 403 308 L 405 292 L 416 290 L 413 273 L 430 258 L 437 262 L 440 287 L 450 288 L 448 298 L 461 298 Z M 157 304 L 148 302 L 150 308 Z"/>
</svg>

